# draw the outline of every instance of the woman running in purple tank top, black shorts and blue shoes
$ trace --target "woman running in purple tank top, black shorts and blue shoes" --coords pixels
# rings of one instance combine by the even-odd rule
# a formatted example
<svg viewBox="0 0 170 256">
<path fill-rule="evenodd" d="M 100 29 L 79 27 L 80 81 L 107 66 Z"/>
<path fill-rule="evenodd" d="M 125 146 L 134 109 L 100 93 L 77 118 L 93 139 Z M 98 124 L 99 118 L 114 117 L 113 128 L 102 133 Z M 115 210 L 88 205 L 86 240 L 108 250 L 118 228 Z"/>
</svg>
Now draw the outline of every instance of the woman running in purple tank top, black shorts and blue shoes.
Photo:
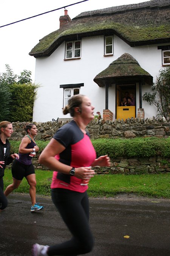
<svg viewBox="0 0 170 256">
<path fill-rule="evenodd" d="M 26 178 L 29 184 L 29 195 L 31 197 L 31 212 L 43 209 L 39 203 L 36 203 L 36 174 L 32 157 L 39 151 L 34 137 L 37 135 L 37 127 L 35 124 L 27 124 L 25 127 L 27 135 L 22 138 L 19 146 L 19 158 L 16 158 L 12 164 L 12 179 L 4 194 L 8 196 L 15 188 L 18 188 L 23 177 Z"/>
</svg>

